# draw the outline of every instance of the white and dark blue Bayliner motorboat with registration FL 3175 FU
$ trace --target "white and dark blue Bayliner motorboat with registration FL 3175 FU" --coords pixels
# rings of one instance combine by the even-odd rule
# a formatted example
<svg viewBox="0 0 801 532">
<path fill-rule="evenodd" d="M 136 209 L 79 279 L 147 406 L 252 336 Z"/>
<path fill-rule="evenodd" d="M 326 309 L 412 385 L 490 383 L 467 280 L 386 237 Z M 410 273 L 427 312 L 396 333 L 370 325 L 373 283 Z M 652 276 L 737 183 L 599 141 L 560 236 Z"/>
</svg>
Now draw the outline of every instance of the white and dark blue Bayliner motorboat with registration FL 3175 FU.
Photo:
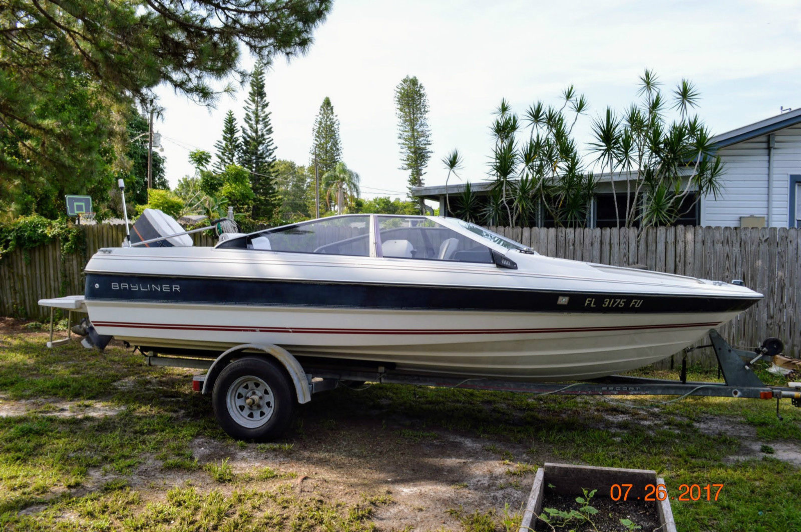
<svg viewBox="0 0 801 532">
<path fill-rule="evenodd" d="M 155 232 L 137 222 L 139 245 L 87 264 L 85 305 L 98 334 L 158 353 L 272 344 L 300 362 L 579 380 L 666 358 L 763 297 L 545 257 L 455 218 L 333 216 L 214 247 L 166 238 L 181 229 L 160 211 L 140 221 Z"/>
</svg>

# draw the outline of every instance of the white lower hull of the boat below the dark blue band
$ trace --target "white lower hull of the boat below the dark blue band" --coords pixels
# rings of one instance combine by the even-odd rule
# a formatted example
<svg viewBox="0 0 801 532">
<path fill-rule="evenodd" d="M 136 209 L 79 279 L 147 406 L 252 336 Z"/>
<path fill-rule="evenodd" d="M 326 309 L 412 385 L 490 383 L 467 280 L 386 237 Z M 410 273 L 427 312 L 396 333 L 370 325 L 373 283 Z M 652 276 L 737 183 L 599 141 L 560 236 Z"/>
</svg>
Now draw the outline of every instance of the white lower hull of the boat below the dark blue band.
<svg viewBox="0 0 801 532">
<path fill-rule="evenodd" d="M 155 350 L 283 346 L 398 370 L 563 381 L 657 362 L 737 312 L 509 313 L 87 302 L 99 334 Z M 303 324 L 303 326 L 299 326 Z M 309 326 L 313 324 L 313 326 Z"/>
</svg>

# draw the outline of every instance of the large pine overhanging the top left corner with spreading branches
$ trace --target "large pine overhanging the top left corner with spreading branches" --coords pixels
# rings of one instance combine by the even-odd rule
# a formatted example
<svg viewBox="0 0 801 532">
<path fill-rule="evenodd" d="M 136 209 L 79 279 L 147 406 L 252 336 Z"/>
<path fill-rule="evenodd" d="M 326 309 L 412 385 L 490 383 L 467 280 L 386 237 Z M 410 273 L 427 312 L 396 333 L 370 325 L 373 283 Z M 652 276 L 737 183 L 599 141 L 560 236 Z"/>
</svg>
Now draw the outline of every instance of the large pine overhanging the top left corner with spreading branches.
<svg viewBox="0 0 801 532">
<path fill-rule="evenodd" d="M 125 152 L 121 110 L 132 102 L 150 106 L 162 84 L 213 103 L 217 82 L 239 73 L 248 52 L 269 63 L 308 50 L 331 6 L 330 0 L 2 2 L 0 202 L 9 194 L 10 202 L 28 202 L 31 190 L 47 194 L 53 205 L 46 214 L 56 217 L 63 194 L 96 189 L 98 199 L 105 197 Z M 43 207 L 36 210 L 45 214 Z M 6 209 L 0 204 L 0 212 Z"/>
</svg>

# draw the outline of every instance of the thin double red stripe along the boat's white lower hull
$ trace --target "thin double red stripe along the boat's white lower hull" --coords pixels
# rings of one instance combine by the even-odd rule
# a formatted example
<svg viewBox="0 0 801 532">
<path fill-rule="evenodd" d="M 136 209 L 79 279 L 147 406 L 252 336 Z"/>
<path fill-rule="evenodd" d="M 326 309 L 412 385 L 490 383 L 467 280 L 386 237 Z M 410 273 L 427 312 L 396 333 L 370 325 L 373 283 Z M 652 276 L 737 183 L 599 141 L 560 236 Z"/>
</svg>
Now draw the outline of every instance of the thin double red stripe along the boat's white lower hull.
<svg viewBox="0 0 801 532">
<path fill-rule="evenodd" d="M 552 329 L 322 329 L 317 327 L 237 327 L 222 325 L 185 325 L 181 323 L 127 323 L 92 322 L 99 327 L 121 327 L 123 329 L 167 329 L 167 330 L 219 330 L 244 333 L 288 333 L 288 334 L 548 334 L 583 333 L 615 330 L 686 329 L 714 327 L 711 323 L 669 323 L 663 325 L 634 325 L 625 327 L 557 327 Z"/>
</svg>

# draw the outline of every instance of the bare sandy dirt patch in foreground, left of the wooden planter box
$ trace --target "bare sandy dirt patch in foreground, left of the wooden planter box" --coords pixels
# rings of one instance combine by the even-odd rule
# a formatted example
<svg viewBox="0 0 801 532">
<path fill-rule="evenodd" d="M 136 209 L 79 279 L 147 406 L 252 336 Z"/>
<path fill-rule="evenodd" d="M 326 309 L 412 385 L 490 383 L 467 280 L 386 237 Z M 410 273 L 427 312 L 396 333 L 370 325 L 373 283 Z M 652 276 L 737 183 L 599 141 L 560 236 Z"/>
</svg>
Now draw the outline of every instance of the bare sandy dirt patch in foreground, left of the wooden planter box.
<svg viewBox="0 0 801 532">
<path fill-rule="evenodd" d="M 513 467 L 486 450 L 493 446 L 522 458 L 523 446 L 445 431 L 428 431 L 423 441 L 404 438 L 402 426 L 348 422 L 336 430 L 319 427 L 292 440 L 291 449 L 200 437 L 191 442 L 200 463 L 227 461 L 235 474 L 270 467 L 292 474 L 294 490 L 346 504 L 388 495 L 392 504 L 377 507 L 379 530 L 461 530 L 454 509 L 467 513 L 487 508 L 501 514 L 522 512 L 533 473 L 511 476 Z M 187 474 L 187 478 L 189 475 Z M 181 478 L 175 479 L 181 482 Z"/>
</svg>

